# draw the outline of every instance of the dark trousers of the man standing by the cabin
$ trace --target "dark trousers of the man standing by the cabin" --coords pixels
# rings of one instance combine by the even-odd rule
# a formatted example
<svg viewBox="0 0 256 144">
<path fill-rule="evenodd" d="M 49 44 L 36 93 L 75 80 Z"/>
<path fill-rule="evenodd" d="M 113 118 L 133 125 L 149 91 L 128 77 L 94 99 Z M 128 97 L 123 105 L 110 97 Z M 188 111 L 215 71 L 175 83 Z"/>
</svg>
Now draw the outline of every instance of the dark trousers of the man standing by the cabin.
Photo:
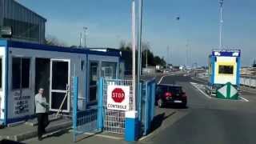
<svg viewBox="0 0 256 144">
<path fill-rule="evenodd" d="M 48 125 L 48 114 L 38 113 L 38 138 L 42 138 L 42 134 L 46 132 L 45 128 Z"/>
</svg>

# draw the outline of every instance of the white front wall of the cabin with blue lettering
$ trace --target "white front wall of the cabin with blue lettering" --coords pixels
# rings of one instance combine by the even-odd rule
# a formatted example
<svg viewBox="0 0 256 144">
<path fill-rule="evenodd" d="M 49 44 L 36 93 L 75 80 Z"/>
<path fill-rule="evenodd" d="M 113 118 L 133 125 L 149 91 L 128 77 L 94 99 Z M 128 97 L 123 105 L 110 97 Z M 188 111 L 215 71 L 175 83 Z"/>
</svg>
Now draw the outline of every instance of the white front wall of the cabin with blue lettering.
<svg viewBox="0 0 256 144">
<path fill-rule="evenodd" d="M 11 51 L 11 52 L 10 52 Z M 85 70 L 80 70 L 80 61 L 84 60 L 86 62 L 85 54 L 75 54 L 75 53 L 65 53 L 65 52 L 56 52 L 56 51 L 46 51 L 46 50 L 27 50 L 19 48 L 10 48 L 9 51 L 9 96 L 8 96 L 8 118 L 19 118 L 26 115 L 34 114 L 34 77 L 35 77 L 35 58 L 60 58 L 60 59 L 69 59 L 70 60 L 70 76 L 78 76 L 79 79 L 79 89 L 78 97 L 85 98 L 86 95 L 86 86 L 85 86 L 85 77 L 86 77 L 86 66 Z M 23 114 L 14 114 L 15 103 L 14 100 L 15 93 L 18 94 L 17 90 L 11 90 L 11 75 L 12 75 L 12 57 L 26 57 L 31 58 L 30 60 L 30 89 L 25 89 L 22 92 L 22 96 L 30 96 L 28 101 L 28 112 Z M 71 98 L 70 98 L 71 101 Z M 70 102 L 69 101 L 69 102 Z M 85 102 L 82 103 L 85 106 Z M 71 106 L 71 102 L 70 102 Z"/>
</svg>

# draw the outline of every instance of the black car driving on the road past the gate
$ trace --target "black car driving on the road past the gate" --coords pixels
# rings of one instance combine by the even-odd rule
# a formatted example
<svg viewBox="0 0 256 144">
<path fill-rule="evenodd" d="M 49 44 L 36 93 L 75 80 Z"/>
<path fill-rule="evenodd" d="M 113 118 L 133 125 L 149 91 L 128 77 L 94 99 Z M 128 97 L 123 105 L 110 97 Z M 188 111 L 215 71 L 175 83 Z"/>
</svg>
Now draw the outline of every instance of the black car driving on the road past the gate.
<svg viewBox="0 0 256 144">
<path fill-rule="evenodd" d="M 159 84 L 157 86 L 155 98 L 158 107 L 167 105 L 186 107 L 186 93 L 182 90 L 182 86 Z"/>
</svg>

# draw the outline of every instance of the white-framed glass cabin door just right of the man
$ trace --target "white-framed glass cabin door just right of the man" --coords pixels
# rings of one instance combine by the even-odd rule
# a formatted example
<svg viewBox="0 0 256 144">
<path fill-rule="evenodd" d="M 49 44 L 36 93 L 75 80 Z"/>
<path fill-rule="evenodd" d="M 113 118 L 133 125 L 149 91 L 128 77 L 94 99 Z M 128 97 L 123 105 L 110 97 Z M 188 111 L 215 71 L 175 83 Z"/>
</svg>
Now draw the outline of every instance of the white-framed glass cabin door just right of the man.
<svg viewBox="0 0 256 144">
<path fill-rule="evenodd" d="M 50 110 L 70 112 L 70 60 L 50 59 Z"/>
</svg>

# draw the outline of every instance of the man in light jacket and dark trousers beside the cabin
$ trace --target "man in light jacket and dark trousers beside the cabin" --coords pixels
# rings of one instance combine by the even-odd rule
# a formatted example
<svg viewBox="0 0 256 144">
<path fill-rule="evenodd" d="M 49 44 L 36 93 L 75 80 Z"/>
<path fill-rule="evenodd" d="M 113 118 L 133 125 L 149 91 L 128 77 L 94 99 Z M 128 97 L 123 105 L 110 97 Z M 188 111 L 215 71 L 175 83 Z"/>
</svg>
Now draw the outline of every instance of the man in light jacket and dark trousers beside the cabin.
<svg viewBox="0 0 256 144">
<path fill-rule="evenodd" d="M 43 89 L 38 90 L 35 95 L 35 113 L 38 117 L 38 140 L 42 141 L 42 134 L 46 132 L 45 128 L 48 125 L 47 109 L 49 104 L 46 102 L 46 97 L 43 94 Z"/>
</svg>

